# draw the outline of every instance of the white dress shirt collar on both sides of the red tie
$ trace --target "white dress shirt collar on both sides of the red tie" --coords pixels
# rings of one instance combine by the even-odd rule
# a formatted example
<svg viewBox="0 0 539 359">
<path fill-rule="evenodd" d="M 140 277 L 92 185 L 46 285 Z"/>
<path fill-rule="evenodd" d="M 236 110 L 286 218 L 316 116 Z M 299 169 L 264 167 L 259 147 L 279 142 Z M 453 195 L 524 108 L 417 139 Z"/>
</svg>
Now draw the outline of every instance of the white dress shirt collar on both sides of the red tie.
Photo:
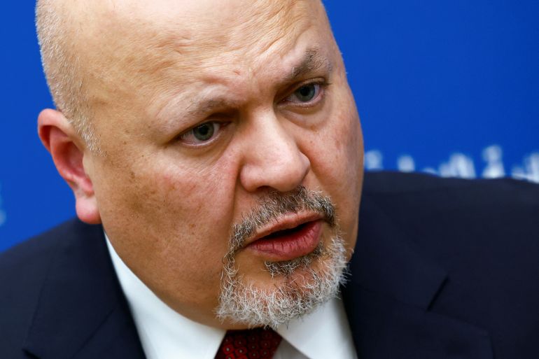
<svg viewBox="0 0 539 359">
<path fill-rule="evenodd" d="M 191 321 L 168 307 L 125 265 L 109 238 L 106 242 L 146 358 L 214 359 L 225 330 Z M 357 358 L 344 307 L 337 298 L 276 332 L 283 341 L 274 359 Z"/>
</svg>

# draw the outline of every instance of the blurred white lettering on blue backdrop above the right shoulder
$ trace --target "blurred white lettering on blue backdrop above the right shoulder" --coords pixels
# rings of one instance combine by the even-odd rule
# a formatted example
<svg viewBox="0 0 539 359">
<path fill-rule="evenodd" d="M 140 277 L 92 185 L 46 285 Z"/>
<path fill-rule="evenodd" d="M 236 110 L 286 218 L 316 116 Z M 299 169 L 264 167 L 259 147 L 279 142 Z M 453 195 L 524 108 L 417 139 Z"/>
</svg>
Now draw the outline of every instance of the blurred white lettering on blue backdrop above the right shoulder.
<svg viewBox="0 0 539 359">
<path fill-rule="evenodd" d="M 384 169 L 384 156 L 379 150 L 365 153 L 365 169 Z M 483 169 L 478 171 L 472 157 L 463 153 L 452 153 L 449 160 L 441 162 L 437 167 L 416 168 L 416 162 L 411 155 L 401 155 L 397 159 L 397 169 L 402 172 L 423 171 L 442 177 L 459 178 L 499 178 L 512 176 L 514 178 L 539 183 L 539 153 L 524 156 L 520 164 L 514 164 L 507 171 L 503 164 L 503 151 L 498 145 L 484 148 L 482 151 Z"/>
</svg>

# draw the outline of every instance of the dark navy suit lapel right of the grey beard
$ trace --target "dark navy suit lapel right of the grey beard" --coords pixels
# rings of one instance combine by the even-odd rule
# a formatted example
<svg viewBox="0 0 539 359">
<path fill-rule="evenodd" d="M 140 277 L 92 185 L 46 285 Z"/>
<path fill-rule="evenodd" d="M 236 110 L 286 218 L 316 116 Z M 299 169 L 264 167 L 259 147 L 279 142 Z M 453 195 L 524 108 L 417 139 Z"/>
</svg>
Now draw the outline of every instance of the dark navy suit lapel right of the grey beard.
<svg viewBox="0 0 539 359">
<path fill-rule="evenodd" d="M 364 195 L 342 296 L 360 358 L 492 358 L 484 330 L 435 314 L 447 274 Z"/>
</svg>

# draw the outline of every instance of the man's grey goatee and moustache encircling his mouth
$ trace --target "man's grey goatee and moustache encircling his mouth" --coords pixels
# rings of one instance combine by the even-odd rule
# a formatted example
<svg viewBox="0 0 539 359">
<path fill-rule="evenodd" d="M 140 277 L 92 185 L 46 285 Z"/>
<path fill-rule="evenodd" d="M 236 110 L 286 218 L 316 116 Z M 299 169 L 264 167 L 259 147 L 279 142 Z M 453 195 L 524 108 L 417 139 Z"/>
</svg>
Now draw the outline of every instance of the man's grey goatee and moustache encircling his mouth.
<svg viewBox="0 0 539 359">
<path fill-rule="evenodd" d="M 320 304 L 335 297 L 345 282 L 346 249 L 335 225 L 334 208 L 327 197 L 305 188 L 287 194 L 270 195 L 260 204 L 261 209 L 251 213 L 235 226 L 230 239 L 230 251 L 224 259 L 221 274 L 221 293 L 216 316 L 221 321 L 241 323 L 249 328 L 260 326 L 276 329 L 290 319 L 309 314 Z M 271 289 L 261 289 L 248 283 L 235 267 L 235 253 L 256 228 L 290 211 L 309 209 L 323 213 L 332 227 L 333 237 L 324 248 L 323 243 L 311 253 L 283 262 L 266 262 L 265 269 L 274 276 L 283 276 L 283 283 Z M 292 274 L 302 275 L 301 283 Z"/>
</svg>

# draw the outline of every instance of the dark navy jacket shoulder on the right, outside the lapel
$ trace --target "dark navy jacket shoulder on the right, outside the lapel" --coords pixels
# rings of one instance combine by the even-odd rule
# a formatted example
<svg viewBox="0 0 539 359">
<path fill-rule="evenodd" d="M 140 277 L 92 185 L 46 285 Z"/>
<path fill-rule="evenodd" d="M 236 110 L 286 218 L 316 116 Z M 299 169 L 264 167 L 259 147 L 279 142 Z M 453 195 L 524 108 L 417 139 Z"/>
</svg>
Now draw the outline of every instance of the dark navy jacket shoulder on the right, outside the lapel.
<svg viewBox="0 0 539 359">
<path fill-rule="evenodd" d="M 488 330 L 500 358 L 527 358 L 537 352 L 522 338 L 538 335 L 538 218 L 535 183 L 370 173 L 358 241 L 396 237 L 440 266 L 447 281 L 429 308 Z"/>
</svg>

